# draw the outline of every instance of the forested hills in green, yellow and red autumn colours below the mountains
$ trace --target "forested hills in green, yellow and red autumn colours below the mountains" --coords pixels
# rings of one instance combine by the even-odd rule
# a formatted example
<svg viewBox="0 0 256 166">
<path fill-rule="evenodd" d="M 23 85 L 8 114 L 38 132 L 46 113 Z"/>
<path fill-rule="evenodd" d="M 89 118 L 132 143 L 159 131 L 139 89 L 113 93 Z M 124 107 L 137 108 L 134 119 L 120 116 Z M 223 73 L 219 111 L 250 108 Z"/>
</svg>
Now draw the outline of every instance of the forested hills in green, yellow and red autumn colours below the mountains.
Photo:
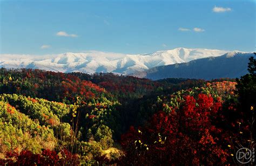
<svg viewBox="0 0 256 166">
<path fill-rule="evenodd" d="M 238 164 L 255 147 L 255 66 L 211 81 L 1 68 L 0 165 Z"/>
</svg>

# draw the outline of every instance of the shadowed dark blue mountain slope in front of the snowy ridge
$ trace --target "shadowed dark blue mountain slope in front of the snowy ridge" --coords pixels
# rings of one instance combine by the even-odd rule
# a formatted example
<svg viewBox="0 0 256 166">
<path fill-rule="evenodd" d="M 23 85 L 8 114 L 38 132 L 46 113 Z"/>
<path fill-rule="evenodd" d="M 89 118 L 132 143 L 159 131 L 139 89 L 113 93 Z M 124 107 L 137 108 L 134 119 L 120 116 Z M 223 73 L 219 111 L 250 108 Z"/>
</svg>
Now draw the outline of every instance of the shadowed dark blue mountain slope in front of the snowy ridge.
<svg viewBox="0 0 256 166">
<path fill-rule="evenodd" d="M 188 63 L 153 67 L 150 70 L 131 75 L 152 80 L 164 78 L 218 79 L 239 78 L 248 73 L 249 58 L 252 52 L 228 52 L 219 57 L 191 60 Z"/>
</svg>

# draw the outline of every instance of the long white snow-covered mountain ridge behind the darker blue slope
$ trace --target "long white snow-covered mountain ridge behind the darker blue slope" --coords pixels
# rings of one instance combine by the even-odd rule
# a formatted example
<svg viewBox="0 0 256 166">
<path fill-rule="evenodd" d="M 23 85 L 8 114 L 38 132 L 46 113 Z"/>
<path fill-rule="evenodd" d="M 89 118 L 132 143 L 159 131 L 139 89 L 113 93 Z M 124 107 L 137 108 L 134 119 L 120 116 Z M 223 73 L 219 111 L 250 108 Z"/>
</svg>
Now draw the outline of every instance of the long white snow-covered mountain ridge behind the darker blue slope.
<svg viewBox="0 0 256 166">
<path fill-rule="evenodd" d="M 99 51 L 68 52 L 47 56 L 1 54 L 0 67 L 39 68 L 55 72 L 130 74 L 146 71 L 156 66 L 186 63 L 205 57 L 218 57 L 225 53 L 227 51 L 177 48 L 147 54 L 120 54 Z"/>
</svg>

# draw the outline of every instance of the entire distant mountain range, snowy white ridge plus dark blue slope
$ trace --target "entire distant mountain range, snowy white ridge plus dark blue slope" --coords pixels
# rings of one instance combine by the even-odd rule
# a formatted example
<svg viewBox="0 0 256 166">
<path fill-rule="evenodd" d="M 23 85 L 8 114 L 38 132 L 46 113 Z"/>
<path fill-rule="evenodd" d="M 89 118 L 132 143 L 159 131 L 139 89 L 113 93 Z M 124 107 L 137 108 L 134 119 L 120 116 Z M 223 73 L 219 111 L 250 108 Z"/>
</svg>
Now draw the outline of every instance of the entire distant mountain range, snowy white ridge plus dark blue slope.
<svg viewBox="0 0 256 166">
<path fill-rule="evenodd" d="M 46 56 L 1 54 L 0 67 L 32 68 L 55 72 L 117 73 L 140 78 L 236 78 L 247 72 L 252 52 L 209 49 L 157 51 L 122 54 L 100 51 L 62 53 Z"/>
</svg>

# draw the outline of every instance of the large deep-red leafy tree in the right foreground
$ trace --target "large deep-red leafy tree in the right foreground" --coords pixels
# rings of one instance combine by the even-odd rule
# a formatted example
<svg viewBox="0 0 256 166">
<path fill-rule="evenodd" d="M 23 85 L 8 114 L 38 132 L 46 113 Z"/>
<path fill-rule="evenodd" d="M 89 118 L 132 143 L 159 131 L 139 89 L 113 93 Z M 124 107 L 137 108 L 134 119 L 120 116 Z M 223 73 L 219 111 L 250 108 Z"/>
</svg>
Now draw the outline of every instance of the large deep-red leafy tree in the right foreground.
<svg viewBox="0 0 256 166">
<path fill-rule="evenodd" d="M 180 109 L 158 112 L 122 136 L 126 164 L 226 164 L 225 133 L 215 126 L 221 103 L 211 95 L 184 96 Z"/>
</svg>

